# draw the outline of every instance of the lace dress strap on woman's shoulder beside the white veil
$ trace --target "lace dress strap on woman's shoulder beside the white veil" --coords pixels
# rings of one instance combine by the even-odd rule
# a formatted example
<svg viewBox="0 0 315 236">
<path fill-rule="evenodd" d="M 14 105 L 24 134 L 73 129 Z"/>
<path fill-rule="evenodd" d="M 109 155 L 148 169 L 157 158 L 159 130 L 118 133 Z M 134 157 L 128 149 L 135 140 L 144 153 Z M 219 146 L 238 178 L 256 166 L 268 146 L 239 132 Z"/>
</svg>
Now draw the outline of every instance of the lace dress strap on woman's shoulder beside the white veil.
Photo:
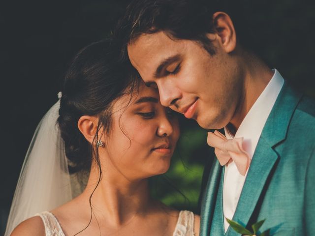
<svg viewBox="0 0 315 236">
<path fill-rule="evenodd" d="M 36 216 L 40 216 L 45 226 L 46 236 L 64 236 L 63 230 L 57 218 L 49 211 L 43 211 Z"/>
</svg>

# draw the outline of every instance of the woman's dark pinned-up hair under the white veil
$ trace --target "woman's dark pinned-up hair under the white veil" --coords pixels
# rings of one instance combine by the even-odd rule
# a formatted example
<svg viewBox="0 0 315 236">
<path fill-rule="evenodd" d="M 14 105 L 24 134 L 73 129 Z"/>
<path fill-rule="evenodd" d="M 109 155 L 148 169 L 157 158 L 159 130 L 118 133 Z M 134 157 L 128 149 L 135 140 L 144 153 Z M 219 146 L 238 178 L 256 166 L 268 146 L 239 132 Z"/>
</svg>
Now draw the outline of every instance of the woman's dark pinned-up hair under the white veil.
<svg viewBox="0 0 315 236">
<path fill-rule="evenodd" d="M 79 118 L 98 116 L 97 130 L 107 135 L 113 101 L 136 88 L 134 69 L 129 61 L 118 59 L 117 51 L 111 39 L 92 43 L 74 57 L 65 74 L 58 124 L 70 174 L 90 171 L 93 158 L 99 166 L 97 132 L 91 145 L 78 129 Z"/>
</svg>

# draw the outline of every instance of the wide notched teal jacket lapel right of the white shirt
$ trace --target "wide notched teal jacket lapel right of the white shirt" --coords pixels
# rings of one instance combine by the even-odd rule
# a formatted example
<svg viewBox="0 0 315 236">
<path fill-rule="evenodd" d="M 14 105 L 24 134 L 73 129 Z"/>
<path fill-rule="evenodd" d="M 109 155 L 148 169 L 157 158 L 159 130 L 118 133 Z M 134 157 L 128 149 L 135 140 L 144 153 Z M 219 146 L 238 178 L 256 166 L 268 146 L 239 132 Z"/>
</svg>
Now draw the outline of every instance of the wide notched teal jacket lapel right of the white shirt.
<svg viewBox="0 0 315 236">
<path fill-rule="evenodd" d="M 273 148 L 285 140 L 287 128 L 301 97 L 301 94 L 295 93 L 284 83 L 262 130 L 233 216 L 234 221 L 244 226 L 248 224 L 265 184 L 268 184 L 267 178 L 276 161 L 281 158 L 281 153 L 277 154 Z M 238 236 L 240 234 L 228 229 L 226 235 Z"/>
</svg>

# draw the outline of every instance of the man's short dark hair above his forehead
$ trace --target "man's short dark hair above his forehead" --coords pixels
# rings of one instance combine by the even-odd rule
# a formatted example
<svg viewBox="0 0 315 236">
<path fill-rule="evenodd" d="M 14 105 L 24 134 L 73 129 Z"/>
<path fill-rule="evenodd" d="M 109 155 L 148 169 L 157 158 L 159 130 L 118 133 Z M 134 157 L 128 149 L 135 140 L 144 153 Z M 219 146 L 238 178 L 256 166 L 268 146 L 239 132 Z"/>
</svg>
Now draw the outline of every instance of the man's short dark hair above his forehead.
<svg viewBox="0 0 315 236">
<path fill-rule="evenodd" d="M 215 32 L 213 14 L 226 11 L 222 0 L 132 0 L 114 33 L 115 40 L 126 46 L 141 34 L 164 31 L 170 38 L 194 40 L 210 55 L 216 53 L 207 33 Z"/>
</svg>

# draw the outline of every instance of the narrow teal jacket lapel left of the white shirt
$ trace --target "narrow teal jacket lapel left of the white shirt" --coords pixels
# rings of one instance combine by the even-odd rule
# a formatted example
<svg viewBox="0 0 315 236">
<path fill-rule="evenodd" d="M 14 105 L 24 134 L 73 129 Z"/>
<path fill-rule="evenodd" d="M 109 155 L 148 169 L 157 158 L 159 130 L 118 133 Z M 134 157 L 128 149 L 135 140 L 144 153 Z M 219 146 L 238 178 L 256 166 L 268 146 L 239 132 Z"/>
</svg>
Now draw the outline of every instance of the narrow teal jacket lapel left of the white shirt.
<svg viewBox="0 0 315 236">
<path fill-rule="evenodd" d="M 201 204 L 200 236 L 209 236 L 215 210 L 222 167 L 214 161 Z"/>
</svg>

